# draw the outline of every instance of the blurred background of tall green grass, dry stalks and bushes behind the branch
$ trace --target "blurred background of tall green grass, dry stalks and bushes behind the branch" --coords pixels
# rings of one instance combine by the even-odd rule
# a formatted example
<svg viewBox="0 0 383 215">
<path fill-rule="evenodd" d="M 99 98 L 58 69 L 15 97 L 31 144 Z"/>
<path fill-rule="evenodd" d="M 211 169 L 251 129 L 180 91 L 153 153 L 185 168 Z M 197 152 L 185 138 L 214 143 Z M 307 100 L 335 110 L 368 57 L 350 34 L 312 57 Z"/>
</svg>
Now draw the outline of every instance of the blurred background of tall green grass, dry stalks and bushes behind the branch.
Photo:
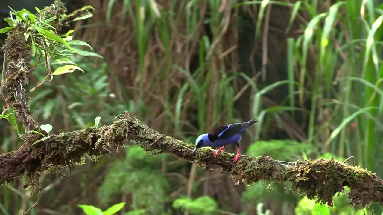
<svg viewBox="0 0 383 215">
<path fill-rule="evenodd" d="M 286 161 L 355 156 L 383 177 L 378 1 L 132 2 L 84 2 L 96 11 L 72 25 L 75 38 L 104 58 L 78 56 L 73 60 L 85 73 L 61 75 L 30 94 L 34 117 L 53 132 L 84 129 L 96 116 L 110 124 L 129 111 L 154 130 L 194 142 L 215 126 L 255 118 L 242 154 Z M 43 64 L 34 68 L 29 87 L 45 76 Z M 0 124 L 2 152 L 20 147 L 15 129 Z M 27 181 L 0 188 L 2 214 L 34 204 L 31 188 L 21 188 Z M 235 185 L 219 169 L 147 156 L 133 144 L 76 166 L 70 178 L 43 173 L 41 182 L 32 215 L 80 214 L 79 204 L 106 210 L 119 202 L 129 215 L 363 214 L 348 206 L 347 189 L 327 208 L 277 183 Z M 377 205 L 367 213 L 372 208 L 382 213 Z"/>
</svg>

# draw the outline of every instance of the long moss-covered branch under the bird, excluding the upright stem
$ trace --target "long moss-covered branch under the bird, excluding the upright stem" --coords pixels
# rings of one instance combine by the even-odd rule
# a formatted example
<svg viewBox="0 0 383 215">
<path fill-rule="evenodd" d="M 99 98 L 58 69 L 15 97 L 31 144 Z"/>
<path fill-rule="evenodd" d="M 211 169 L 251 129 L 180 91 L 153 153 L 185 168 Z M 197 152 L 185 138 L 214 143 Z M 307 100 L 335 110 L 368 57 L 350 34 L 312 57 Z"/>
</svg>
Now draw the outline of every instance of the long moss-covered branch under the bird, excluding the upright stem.
<svg viewBox="0 0 383 215">
<path fill-rule="evenodd" d="M 28 142 L 34 142 L 30 136 Z M 241 156 L 232 163 L 234 154 L 223 152 L 214 158 L 215 150 L 201 148 L 191 156 L 193 144 L 167 137 L 145 125 L 140 125 L 132 114 L 121 114 L 109 126 L 89 127 L 76 132 L 52 135 L 51 138 L 29 148 L 0 155 L 0 184 L 12 182 L 23 173 L 68 168 L 69 163 L 83 163 L 84 155 L 108 155 L 118 150 L 127 140 L 134 140 L 152 154 L 169 153 L 177 158 L 209 168 L 223 168 L 234 182 L 252 184 L 259 180 L 279 181 L 273 160 L 266 157 Z M 291 181 L 291 190 L 309 199 L 332 205 L 332 196 L 349 186 L 350 204 L 366 206 L 370 202 L 383 203 L 383 184 L 374 173 L 330 158 L 316 161 L 276 161 L 282 181 Z"/>
</svg>

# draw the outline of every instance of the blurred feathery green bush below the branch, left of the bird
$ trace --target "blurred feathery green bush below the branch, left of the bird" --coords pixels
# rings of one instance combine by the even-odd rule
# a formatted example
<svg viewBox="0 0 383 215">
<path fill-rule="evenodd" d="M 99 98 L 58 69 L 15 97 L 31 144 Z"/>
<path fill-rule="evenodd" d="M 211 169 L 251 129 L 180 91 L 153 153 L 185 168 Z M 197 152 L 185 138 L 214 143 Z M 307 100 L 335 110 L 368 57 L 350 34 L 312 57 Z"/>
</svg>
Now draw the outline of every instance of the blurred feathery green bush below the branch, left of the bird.
<svg viewBox="0 0 383 215">
<path fill-rule="evenodd" d="M 169 202 L 167 189 L 170 183 L 161 173 L 159 160 L 166 156 L 147 156 L 140 146 L 127 146 L 125 158 L 109 164 L 99 189 L 101 202 L 110 203 L 118 193 L 130 194 L 134 210 L 145 209 L 151 214 L 163 214 L 163 206 Z"/>
</svg>

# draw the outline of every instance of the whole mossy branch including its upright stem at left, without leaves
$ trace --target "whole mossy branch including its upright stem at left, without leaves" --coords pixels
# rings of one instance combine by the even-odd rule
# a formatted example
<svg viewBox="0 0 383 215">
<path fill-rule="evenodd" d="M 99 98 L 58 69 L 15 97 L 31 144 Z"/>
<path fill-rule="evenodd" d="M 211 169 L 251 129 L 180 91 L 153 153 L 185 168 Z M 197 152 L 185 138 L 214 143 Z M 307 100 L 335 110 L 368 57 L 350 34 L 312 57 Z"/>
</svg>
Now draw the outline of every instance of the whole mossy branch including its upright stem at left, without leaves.
<svg viewBox="0 0 383 215">
<path fill-rule="evenodd" d="M 44 10 L 56 10 L 60 15 L 64 8 L 58 0 L 56 8 L 46 7 Z M 59 5 L 59 7 L 57 7 Z M 63 7 L 63 5 L 62 5 Z M 62 21 L 75 20 L 78 13 L 71 16 L 62 15 Z M 79 13 L 80 14 L 80 13 Z M 83 15 L 83 14 L 82 14 Z M 61 23 L 57 23 L 59 27 Z M 23 28 L 16 28 L 8 34 L 3 46 L 7 53 L 8 71 L 5 79 L 5 89 L 8 97 L 7 106 L 14 108 L 16 117 L 23 122 L 26 131 L 38 130 L 38 122 L 31 117 L 26 93 L 29 74 L 29 48 L 24 38 Z M 40 135 L 26 132 L 23 135 L 24 145 L 16 151 L 0 155 L 0 185 L 13 183 L 17 178 L 27 174 L 36 175 L 41 171 L 54 171 L 59 168 L 70 168 L 73 164 L 82 164 L 85 155 L 94 160 L 108 155 L 113 148 L 118 150 L 128 140 L 140 144 L 149 155 L 169 153 L 180 160 L 185 160 L 206 169 L 222 167 L 223 171 L 231 174 L 234 182 L 244 181 L 246 184 L 266 180 L 270 182 L 291 181 L 291 190 L 309 199 L 317 198 L 318 202 L 332 205 L 332 196 L 342 192 L 343 186 L 349 186 L 351 205 L 367 206 L 370 202 L 383 204 L 383 183 L 374 173 L 358 166 L 351 166 L 340 161 L 316 160 L 285 162 L 270 158 L 241 156 L 236 163 L 232 163 L 233 154 L 220 153 L 214 158 L 214 150 L 201 148 L 195 157 L 191 156 L 194 145 L 184 143 L 172 137 L 167 137 L 145 125 L 140 125 L 132 114 L 121 114 L 116 121 L 104 127 L 89 127 L 87 129 L 62 134 L 51 134 L 47 140 L 33 143 L 41 138 Z M 37 177 L 34 180 L 38 180 Z M 38 181 L 36 181 L 38 182 Z"/>
</svg>

